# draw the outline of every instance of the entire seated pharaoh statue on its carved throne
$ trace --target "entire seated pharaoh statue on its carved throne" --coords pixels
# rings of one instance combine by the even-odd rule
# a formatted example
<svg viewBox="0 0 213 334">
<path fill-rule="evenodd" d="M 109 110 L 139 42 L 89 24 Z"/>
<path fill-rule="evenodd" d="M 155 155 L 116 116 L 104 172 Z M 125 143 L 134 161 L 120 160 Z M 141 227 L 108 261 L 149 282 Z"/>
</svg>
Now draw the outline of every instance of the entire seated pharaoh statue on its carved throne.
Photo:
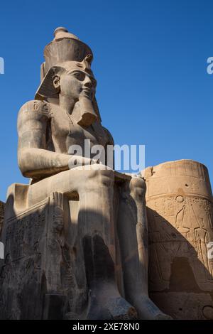
<svg viewBox="0 0 213 334">
<path fill-rule="evenodd" d="M 148 297 L 145 181 L 84 153 L 85 140 L 114 145 L 92 50 L 60 27 L 44 56 L 18 114 L 18 165 L 31 180 L 8 190 L 1 318 L 168 319 Z"/>
</svg>

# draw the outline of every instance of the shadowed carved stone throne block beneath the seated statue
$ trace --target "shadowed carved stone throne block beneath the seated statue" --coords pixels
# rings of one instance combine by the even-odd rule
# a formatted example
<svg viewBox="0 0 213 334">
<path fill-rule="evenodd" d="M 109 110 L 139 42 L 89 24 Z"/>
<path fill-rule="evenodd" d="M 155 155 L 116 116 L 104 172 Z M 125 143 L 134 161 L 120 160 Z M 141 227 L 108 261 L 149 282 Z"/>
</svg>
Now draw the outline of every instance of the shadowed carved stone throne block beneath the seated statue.
<svg viewBox="0 0 213 334">
<path fill-rule="evenodd" d="M 65 316 L 61 271 L 65 259 L 61 194 L 6 217 L 1 240 L 5 261 L 0 274 L 1 319 L 62 319 Z M 11 213 L 10 200 L 6 212 Z"/>
</svg>

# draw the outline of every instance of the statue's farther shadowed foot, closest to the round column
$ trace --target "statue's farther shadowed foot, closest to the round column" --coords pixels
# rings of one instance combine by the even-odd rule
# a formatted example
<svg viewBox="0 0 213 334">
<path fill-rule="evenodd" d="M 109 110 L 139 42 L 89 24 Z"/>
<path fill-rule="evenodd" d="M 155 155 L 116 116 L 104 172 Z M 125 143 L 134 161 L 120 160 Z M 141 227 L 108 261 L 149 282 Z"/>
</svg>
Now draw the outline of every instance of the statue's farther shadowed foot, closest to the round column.
<svg viewBox="0 0 213 334">
<path fill-rule="evenodd" d="M 140 295 L 134 298 L 133 305 L 138 312 L 138 318 L 144 320 L 173 320 L 171 316 L 163 313 L 155 306 L 155 303 L 146 295 Z"/>
</svg>

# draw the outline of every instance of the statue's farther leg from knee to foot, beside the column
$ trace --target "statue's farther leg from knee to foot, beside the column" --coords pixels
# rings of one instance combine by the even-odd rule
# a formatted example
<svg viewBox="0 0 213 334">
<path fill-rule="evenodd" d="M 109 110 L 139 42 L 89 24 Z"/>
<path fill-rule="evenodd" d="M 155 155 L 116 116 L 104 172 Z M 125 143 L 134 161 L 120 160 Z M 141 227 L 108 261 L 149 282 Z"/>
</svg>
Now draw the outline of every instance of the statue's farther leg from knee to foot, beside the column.
<svg viewBox="0 0 213 334">
<path fill-rule="evenodd" d="M 141 319 L 169 319 L 148 297 L 148 226 L 146 184 L 132 178 L 120 188 L 118 235 L 124 273 L 125 298 Z"/>
</svg>

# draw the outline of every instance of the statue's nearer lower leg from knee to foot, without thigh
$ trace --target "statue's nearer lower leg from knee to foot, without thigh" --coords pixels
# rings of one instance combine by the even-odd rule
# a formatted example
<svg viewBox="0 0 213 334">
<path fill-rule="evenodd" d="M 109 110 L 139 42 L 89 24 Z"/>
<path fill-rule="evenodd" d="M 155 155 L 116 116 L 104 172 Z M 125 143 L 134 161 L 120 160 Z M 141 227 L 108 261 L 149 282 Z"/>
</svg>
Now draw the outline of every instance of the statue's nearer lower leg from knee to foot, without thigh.
<svg viewBox="0 0 213 334">
<path fill-rule="evenodd" d="M 131 318 L 136 311 L 121 298 L 115 280 L 114 171 L 89 173 L 79 188 L 78 235 L 89 288 L 87 318 Z"/>
</svg>

